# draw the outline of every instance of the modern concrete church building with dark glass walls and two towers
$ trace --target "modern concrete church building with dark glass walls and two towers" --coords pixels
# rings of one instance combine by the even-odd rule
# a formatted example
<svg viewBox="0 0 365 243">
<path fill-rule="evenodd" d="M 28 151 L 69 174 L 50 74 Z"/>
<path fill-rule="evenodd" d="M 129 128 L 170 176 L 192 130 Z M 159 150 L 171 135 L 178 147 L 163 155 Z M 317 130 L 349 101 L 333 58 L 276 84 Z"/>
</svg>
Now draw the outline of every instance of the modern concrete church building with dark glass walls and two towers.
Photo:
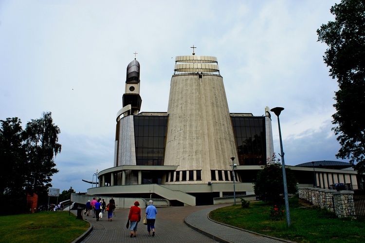
<svg viewBox="0 0 365 243">
<path fill-rule="evenodd" d="M 141 82 L 140 74 L 135 58 L 127 66 L 123 105 L 116 115 L 114 166 L 98 173 L 98 186 L 86 196 L 152 198 L 168 206 L 255 196 L 256 173 L 274 153 L 269 108 L 260 116 L 230 112 L 217 57 L 193 52 L 175 58 L 167 112 L 141 112 L 140 86 L 146 80 Z M 311 168 L 292 168 L 303 181 L 300 187 L 313 187 Z M 326 171 L 314 172 L 318 181 L 323 175 L 324 187 L 330 178 Z M 346 173 L 356 182 L 356 172 Z"/>
</svg>

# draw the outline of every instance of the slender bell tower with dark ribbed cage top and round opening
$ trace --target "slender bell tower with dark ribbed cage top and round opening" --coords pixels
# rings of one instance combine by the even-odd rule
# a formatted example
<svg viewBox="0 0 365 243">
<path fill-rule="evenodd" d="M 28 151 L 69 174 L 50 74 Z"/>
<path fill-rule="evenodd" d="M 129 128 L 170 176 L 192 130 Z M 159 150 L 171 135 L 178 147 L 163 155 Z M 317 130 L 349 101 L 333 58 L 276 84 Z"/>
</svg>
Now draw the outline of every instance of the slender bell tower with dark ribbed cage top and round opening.
<svg viewBox="0 0 365 243">
<path fill-rule="evenodd" d="M 126 90 L 123 94 L 123 107 L 131 105 L 131 114 L 134 115 L 141 110 L 140 81 L 140 64 L 134 56 L 134 60 L 127 66 Z"/>
</svg>

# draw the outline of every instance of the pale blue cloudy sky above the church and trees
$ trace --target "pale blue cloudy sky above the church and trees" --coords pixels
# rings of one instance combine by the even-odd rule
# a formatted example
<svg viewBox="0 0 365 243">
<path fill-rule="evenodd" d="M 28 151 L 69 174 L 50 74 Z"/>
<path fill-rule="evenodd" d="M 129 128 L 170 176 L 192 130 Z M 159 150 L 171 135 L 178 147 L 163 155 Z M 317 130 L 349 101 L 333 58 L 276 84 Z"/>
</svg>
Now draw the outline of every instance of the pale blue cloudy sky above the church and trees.
<svg viewBox="0 0 365 243">
<path fill-rule="evenodd" d="M 230 112 L 280 114 L 286 165 L 339 160 L 336 80 L 316 30 L 339 0 L 0 0 L 0 119 L 52 112 L 53 188 L 86 192 L 113 167 L 126 68 L 141 65 L 141 112 L 166 112 L 175 56 L 216 56 Z M 280 153 L 276 116 L 274 150 Z M 229 162 L 229 161 L 228 161 Z"/>
</svg>

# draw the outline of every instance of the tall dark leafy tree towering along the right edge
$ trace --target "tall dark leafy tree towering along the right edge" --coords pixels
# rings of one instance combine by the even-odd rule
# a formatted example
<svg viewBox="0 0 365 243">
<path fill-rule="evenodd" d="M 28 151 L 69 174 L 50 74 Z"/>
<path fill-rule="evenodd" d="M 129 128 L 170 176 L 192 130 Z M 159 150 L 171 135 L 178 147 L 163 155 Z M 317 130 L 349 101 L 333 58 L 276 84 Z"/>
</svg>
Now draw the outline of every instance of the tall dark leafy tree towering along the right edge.
<svg viewBox="0 0 365 243">
<path fill-rule="evenodd" d="M 317 30 L 318 41 L 328 49 L 324 61 L 337 78 L 336 113 L 332 130 L 341 149 L 337 158 L 348 158 L 358 173 L 365 172 L 365 1 L 342 0 L 330 9 L 334 21 Z"/>
</svg>

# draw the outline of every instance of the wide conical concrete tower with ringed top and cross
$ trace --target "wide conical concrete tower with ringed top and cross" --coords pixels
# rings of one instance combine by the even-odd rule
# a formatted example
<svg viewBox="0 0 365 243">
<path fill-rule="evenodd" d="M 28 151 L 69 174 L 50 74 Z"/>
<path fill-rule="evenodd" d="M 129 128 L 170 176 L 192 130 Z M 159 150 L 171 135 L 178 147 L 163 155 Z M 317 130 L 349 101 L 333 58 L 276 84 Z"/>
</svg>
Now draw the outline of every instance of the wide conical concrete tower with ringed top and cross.
<svg viewBox="0 0 365 243">
<path fill-rule="evenodd" d="M 193 53 L 177 56 L 175 62 L 164 165 L 179 166 L 180 182 L 174 182 L 175 178 L 165 184 L 185 183 L 183 174 L 187 174 L 186 183 L 206 184 L 212 173 L 232 171 L 230 158 L 237 158 L 223 78 L 214 56 Z"/>
</svg>

